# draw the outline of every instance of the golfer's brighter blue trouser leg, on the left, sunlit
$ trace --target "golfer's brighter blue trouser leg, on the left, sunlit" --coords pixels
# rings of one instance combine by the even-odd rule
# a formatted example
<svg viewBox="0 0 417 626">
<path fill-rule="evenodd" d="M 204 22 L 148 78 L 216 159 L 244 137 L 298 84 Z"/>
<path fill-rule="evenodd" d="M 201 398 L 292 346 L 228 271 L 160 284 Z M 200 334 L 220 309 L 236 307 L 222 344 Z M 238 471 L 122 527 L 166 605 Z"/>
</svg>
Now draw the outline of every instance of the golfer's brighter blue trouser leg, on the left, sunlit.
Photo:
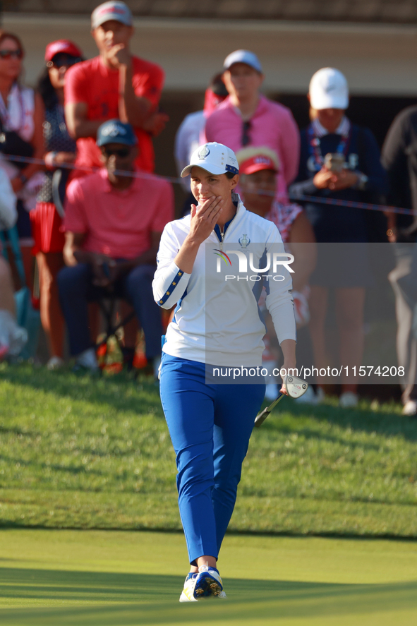
<svg viewBox="0 0 417 626">
<path fill-rule="evenodd" d="M 162 356 L 159 389 L 176 453 L 179 510 L 192 565 L 203 555 L 217 558 L 214 486 L 214 401 L 204 365 Z"/>
</svg>

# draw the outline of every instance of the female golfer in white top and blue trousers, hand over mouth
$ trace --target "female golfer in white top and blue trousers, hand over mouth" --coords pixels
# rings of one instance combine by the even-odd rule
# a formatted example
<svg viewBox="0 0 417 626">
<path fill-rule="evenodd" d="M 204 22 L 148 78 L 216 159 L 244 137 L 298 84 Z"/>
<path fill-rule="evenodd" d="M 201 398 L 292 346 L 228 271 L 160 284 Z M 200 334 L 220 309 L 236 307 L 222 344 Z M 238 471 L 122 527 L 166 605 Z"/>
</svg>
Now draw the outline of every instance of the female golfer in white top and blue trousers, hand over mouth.
<svg viewBox="0 0 417 626">
<path fill-rule="evenodd" d="M 225 145 L 200 146 L 181 176 L 188 174 L 198 204 L 165 227 L 153 282 L 160 306 L 178 303 L 163 346 L 160 391 L 191 563 L 180 602 L 226 597 L 217 557 L 265 396 L 265 378 L 255 376 L 265 335 L 255 288 L 264 281 L 283 367 L 296 365 L 291 275 L 288 264 L 279 264 L 286 255 L 277 227 L 248 212 L 234 193 L 238 162 Z"/>
</svg>

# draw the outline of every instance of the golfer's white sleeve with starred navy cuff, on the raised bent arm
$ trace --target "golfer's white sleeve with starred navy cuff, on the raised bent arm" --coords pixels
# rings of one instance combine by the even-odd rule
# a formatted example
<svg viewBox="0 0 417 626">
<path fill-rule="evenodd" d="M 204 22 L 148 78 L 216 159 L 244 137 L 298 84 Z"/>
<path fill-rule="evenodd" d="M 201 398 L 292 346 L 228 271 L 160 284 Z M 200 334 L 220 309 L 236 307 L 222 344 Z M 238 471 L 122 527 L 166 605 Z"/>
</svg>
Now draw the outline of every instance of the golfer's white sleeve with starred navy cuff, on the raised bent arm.
<svg viewBox="0 0 417 626">
<path fill-rule="evenodd" d="M 155 302 L 162 308 L 171 308 L 181 300 L 191 277 L 174 263 L 180 247 L 171 224 L 167 224 L 159 242 L 157 271 L 152 282 Z"/>
</svg>

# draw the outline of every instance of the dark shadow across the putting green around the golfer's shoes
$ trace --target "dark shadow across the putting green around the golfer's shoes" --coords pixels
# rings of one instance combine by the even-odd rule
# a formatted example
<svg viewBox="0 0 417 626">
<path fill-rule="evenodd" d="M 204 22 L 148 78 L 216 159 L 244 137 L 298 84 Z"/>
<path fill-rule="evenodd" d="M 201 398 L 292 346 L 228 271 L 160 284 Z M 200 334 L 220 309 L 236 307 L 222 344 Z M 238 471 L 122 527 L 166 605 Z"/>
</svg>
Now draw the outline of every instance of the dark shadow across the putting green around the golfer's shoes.
<svg viewBox="0 0 417 626">
<path fill-rule="evenodd" d="M 373 610 L 417 609 L 417 582 L 349 585 L 229 579 L 228 600 L 209 600 L 204 613 L 196 616 L 194 610 L 200 611 L 201 603 L 193 609 L 178 601 L 182 583 L 182 577 L 171 575 L 0 568 L 1 604 L 20 605 L 1 609 L 1 624 L 27 625 L 29 618 L 31 626 L 133 626 L 195 620 L 259 624 L 258 620 L 278 616 L 353 617 Z M 32 608 L 22 608 L 25 604 Z"/>
</svg>

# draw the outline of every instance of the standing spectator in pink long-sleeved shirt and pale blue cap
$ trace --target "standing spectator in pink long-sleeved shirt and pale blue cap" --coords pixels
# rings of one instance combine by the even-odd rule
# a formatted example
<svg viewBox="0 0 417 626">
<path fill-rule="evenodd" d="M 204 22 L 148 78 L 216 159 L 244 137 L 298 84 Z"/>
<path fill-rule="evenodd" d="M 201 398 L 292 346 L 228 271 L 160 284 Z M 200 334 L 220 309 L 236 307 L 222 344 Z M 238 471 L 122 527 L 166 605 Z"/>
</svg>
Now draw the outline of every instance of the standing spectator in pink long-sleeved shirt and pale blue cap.
<svg viewBox="0 0 417 626">
<path fill-rule="evenodd" d="M 298 172 L 300 137 L 291 111 L 260 94 L 264 80 L 258 57 L 236 50 L 224 60 L 224 84 L 229 97 L 207 119 L 203 142 L 217 141 L 234 152 L 247 146 L 267 146 L 279 157 L 277 199 L 287 200 L 287 186 Z"/>
</svg>

